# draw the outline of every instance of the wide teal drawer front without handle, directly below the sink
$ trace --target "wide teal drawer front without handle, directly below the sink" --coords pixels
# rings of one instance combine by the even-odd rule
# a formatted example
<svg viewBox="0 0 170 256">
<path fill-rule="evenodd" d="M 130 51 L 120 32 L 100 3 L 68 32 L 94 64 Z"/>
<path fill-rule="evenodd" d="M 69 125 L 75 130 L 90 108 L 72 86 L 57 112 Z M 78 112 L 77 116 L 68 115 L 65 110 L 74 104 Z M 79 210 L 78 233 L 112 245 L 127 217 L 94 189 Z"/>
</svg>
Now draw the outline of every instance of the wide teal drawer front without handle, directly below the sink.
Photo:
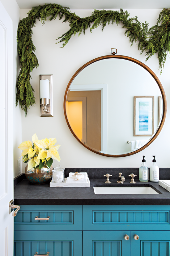
<svg viewBox="0 0 170 256">
<path fill-rule="evenodd" d="M 83 230 L 170 230 L 167 205 L 84 205 Z"/>
</svg>

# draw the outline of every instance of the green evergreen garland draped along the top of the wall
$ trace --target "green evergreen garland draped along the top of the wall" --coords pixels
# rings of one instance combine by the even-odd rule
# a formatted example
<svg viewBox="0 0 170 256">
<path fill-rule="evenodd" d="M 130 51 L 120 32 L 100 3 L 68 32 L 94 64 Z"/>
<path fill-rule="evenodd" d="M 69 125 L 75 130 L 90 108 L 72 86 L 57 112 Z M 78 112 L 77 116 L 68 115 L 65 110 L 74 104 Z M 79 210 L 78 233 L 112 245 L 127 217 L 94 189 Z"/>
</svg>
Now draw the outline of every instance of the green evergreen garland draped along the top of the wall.
<svg viewBox="0 0 170 256">
<path fill-rule="evenodd" d="M 94 10 L 91 16 L 80 18 L 75 13 L 71 13 L 68 7 L 62 7 L 55 3 L 33 7 L 28 12 L 28 17 L 20 21 L 17 32 L 21 69 L 17 82 L 16 106 L 19 101 L 22 110 L 25 111 L 25 116 L 27 116 L 29 106 L 34 106 L 36 103 L 34 90 L 30 83 L 30 73 L 35 67 L 38 67 L 38 60 L 34 54 L 36 48 L 32 42 L 32 27 L 35 26 L 36 19 L 44 25 L 48 17 L 50 17 L 49 20 L 53 20 L 58 15 L 59 20 L 65 16 L 63 22 L 67 21 L 70 25 L 70 29 L 57 38 L 57 40 L 60 39 L 57 43 L 63 43 L 62 47 L 69 42 L 72 35 L 77 33 L 80 35 L 82 31 L 85 34 L 86 29 L 90 29 L 92 32 L 92 29 L 96 29 L 99 25 L 102 25 L 102 29 L 104 29 L 107 23 L 112 25 L 121 23 L 122 28 L 126 29 L 125 35 L 129 37 L 131 46 L 134 41 L 137 43 L 138 40 L 138 49 L 141 54 L 146 52 L 148 56 L 146 60 L 158 53 L 159 68 L 162 72 L 167 54 L 170 52 L 170 9 L 164 8 L 159 14 L 157 24 L 148 29 L 147 22 L 141 24 L 137 17 L 129 18 L 129 13 L 123 9 L 120 11 Z"/>
</svg>

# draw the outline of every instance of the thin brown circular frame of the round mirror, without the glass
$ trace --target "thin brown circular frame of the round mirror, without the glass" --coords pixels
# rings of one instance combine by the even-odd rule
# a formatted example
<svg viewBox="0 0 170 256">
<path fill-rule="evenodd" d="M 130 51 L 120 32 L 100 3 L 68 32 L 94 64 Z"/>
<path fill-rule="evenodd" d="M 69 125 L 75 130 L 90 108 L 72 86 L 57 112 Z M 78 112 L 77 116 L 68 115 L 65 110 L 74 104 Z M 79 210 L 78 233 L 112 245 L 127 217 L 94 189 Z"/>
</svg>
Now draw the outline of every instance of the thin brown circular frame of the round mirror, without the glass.
<svg viewBox="0 0 170 256">
<path fill-rule="evenodd" d="M 121 154 L 121 155 L 109 155 L 109 154 L 104 154 L 104 153 L 101 153 L 99 151 L 96 151 L 92 148 L 90 148 L 89 146 L 83 144 L 82 141 L 80 141 L 80 139 L 75 135 L 75 133 L 73 132 L 72 128 L 70 127 L 70 124 L 69 124 L 69 121 L 67 119 L 67 114 L 66 114 L 66 97 L 67 97 L 67 93 L 68 93 L 68 90 L 70 88 L 70 85 L 71 83 L 73 82 L 74 78 L 84 69 L 86 68 L 88 65 L 96 62 L 96 61 L 100 61 L 100 60 L 104 60 L 104 59 L 124 59 L 124 60 L 128 60 L 128 61 L 132 61 L 138 65 L 140 65 L 141 67 L 143 67 L 144 69 L 146 69 L 150 74 L 151 76 L 155 79 L 156 83 L 158 84 L 159 86 L 159 89 L 161 91 L 161 94 L 162 94 L 162 101 L 163 101 L 163 115 L 162 115 L 162 120 L 161 120 L 161 123 L 159 125 L 159 127 L 157 128 L 157 131 L 155 133 L 155 135 L 151 138 L 150 141 L 147 142 L 147 144 L 145 144 L 144 146 L 142 146 L 141 148 L 139 148 L 138 150 L 135 150 L 133 152 L 130 152 L 130 153 L 127 153 L 127 154 Z M 73 134 L 73 136 L 76 138 L 76 140 L 78 140 L 80 142 L 80 144 L 82 144 L 85 148 L 87 148 L 88 150 L 98 154 L 98 155 L 103 155 L 103 156 L 108 156 L 108 157 L 124 157 L 124 156 L 129 156 L 129 155 L 134 155 L 134 154 L 137 154 L 138 152 L 142 151 L 143 149 L 147 148 L 155 139 L 156 137 L 159 135 L 163 125 L 164 125 L 164 122 L 165 122 L 165 117 L 166 117 L 166 112 L 167 112 L 167 101 L 166 101 L 166 96 L 165 96 L 165 92 L 164 92 L 164 88 L 161 84 L 161 82 L 159 81 L 158 77 L 156 76 L 156 74 L 147 66 L 145 65 L 144 63 L 142 63 L 141 61 L 138 61 L 134 58 L 131 58 L 131 57 L 128 57 L 128 56 L 123 56 L 123 55 L 106 55 L 106 56 L 101 56 L 101 57 L 98 57 L 96 59 L 93 59 L 89 62 L 87 62 L 86 64 L 84 64 L 81 68 L 79 68 L 79 70 L 77 70 L 75 72 L 75 74 L 72 76 L 72 78 L 70 79 L 70 82 L 68 83 L 67 85 L 67 88 L 66 88 L 66 92 L 65 92 L 65 95 L 64 95 L 64 115 L 65 115 L 65 118 L 66 118 L 66 122 L 67 122 L 67 125 L 71 131 L 71 133 Z"/>
</svg>

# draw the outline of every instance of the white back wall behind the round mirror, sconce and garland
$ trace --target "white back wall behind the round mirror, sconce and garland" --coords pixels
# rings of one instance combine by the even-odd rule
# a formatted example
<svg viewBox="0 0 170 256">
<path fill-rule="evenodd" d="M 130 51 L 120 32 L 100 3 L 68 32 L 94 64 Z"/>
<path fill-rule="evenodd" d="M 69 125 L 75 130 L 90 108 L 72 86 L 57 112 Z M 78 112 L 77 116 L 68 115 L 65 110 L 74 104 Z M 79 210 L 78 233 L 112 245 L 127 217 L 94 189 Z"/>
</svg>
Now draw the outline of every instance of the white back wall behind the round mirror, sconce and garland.
<svg viewBox="0 0 170 256">
<path fill-rule="evenodd" d="M 94 6 L 95 8 L 95 6 Z M 80 17 L 90 16 L 92 10 L 71 10 Z M 138 16 L 138 20 L 144 22 L 147 20 L 149 26 L 156 24 L 161 10 L 127 10 L 130 17 Z M 21 10 L 20 18 L 26 16 L 28 10 Z M 31 84 L 35 90 L 36 106 L 28 110 L 28 116 L 25 118 L 22 113 L 22 141 L 31 140 L 36 132 L 39 139 L 44 137 L 56 137 L 57 144 L 61 144 L 58 152 L 61 157 L 63 167 L 139 167 L 142 155 L 146 156 L 147 165 L 151 165 L 152 155 L 156 155 L 159 167 L 169 167 L 169 108 L 170 108 L 170 62 L 167 58 L 165 68 L 161 75 L 157 54 L 147 61 L 147 65 L 155 72 L 163 84 L 167 101 L 167 118 L 162 131 L 156 140 L 145 150 L 138 154 L 123 157 L 111 158 L 97 155 L 83 147 L 71 134 L 64 117 L 63 99 L 66 86 L 72 75 L 86 62 L 110 54 L 111 48 L 117 48 L 120 55 L 131 56 L 145 63 L 145 54 L 140 55 L 137 45 L 130 48 L 129 39 L 124 35 L 125 29 L 121 25 L 107 25 L 102 32 L 102 28 L 86 31 L 85 35 L 79 37 L 75 35 L 64 48 L 62 45 L 55 44 L 56 38 L 61 36 L 69 29 L 68 23 L 62 23 L 62 20 L 53 20 L 46 22 L 44 26 L 37 20 L 36 27 L 33 28 L 33 42 L 36 47 L 36 56 L 39 61 L 39 67 L 33 70 Z M 53 74 L 54 82 L 54 117 L 40 117 L 39 106 L 39 75 Z M 128 138 L 127 138 L 128 140 Z M 58 164 L 54 162 L 53 166 Z M 23 164 L 24 166 L 24 164 Z M 24 172 L 24 167 L 23 167 Z"/>
</svg>

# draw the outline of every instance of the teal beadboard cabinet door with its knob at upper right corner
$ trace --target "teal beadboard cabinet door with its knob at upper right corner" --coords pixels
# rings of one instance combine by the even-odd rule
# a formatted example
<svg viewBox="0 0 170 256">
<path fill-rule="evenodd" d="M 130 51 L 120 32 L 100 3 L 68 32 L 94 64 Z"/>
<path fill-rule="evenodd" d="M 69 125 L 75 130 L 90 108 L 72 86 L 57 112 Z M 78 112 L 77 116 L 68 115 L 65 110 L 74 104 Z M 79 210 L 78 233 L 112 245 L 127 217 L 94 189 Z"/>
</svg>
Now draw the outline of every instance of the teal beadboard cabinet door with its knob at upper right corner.
<svg viewBox="0 0 170 256">
<path fill-rule="evenodd" d="M 130 231 L 83 231 L 83 256 L 130 256 Z"/>
</svg>

